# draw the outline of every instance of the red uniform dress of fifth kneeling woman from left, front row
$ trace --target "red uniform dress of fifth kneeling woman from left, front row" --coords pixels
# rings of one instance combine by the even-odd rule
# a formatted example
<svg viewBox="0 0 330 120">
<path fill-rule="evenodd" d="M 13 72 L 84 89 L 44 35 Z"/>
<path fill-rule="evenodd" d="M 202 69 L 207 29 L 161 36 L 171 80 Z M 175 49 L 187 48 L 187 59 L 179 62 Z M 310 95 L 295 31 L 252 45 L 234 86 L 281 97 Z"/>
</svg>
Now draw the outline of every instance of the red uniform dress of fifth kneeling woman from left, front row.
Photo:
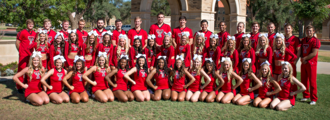
<svg viewBox="0 0 330 120">
<path fill-rule="evenodd" d="M 124 75 L 126 74 L 127 70 L 122 70 L 122 69 L 118 69 L 118 72 L 116 74 L 116 84 L 117 87 L 113 87 L 112 91 L 116 91 L 116 90 L 122 90 L 122 91 L 127 91 L 128 86 L 127 86 L 127 80 L 126 78 L 124 78 Z"/>
</svg>

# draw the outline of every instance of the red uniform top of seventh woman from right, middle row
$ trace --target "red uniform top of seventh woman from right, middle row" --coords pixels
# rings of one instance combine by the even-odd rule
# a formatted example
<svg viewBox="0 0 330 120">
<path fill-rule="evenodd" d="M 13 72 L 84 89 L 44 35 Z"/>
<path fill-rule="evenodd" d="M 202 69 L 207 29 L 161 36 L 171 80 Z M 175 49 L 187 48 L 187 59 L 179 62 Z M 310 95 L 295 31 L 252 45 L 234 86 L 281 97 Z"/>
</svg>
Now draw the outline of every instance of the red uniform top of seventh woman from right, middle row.
<svg viewBox="0 0 330 120">
<path fill-rule="evenodd" d="M 185 67 L 190 67 L 190 46 L 189 44 L 185 44 L 185 45 L 181 45 L 180 43 L 177 44 L 177 48 L 175 49 L 176 50 L 176 55 L 179 55 L 181 53 L 185 53 L 185 57 L 183 58 L 184 59 L 184 65 Z M 180 55 L 179 55 L 180 56 Z"/>
</svg>

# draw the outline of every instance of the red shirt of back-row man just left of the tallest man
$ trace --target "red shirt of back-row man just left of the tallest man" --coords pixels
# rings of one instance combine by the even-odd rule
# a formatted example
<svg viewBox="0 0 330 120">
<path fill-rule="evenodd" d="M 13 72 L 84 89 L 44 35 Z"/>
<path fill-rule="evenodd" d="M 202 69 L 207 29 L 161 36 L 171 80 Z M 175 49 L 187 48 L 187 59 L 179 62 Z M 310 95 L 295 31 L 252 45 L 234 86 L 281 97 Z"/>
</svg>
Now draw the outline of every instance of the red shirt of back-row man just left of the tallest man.
<svg viewBox="0 0 330 120">
<path fill-rule="evenodd" d="M 142 39 L 141 39 L 142 47 L 146 44 L 145 40 L 148 39 L 148 34 L 145 30 L 143 30 L 141 28 L 139 31 L 137 31 L 137 30 L 135 30 L 135 28 L 133 28 L 127 32 L 128 39 L 131 39 L 131 43 L 130 43 L 131 46 L 133 46 L 133 44 L 134 44 L 134 36 L 142 36 Z"/>
</svg>

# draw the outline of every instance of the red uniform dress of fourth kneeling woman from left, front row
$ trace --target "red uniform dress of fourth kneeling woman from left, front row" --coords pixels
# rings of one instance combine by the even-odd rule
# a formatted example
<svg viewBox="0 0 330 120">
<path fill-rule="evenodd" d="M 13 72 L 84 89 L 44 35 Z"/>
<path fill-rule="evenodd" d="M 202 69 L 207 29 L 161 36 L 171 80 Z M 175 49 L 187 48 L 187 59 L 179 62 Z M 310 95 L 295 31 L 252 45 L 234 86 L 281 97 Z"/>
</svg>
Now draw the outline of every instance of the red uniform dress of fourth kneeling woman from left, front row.
<svg viewBox="0 0 330 120">
<path fill-rule="evenodd" d="M 98 72 L 98 71 L 94 72 L 96 85 L 92 86 L 92 92 L 93 93 L 95 93 L 97 90 L 105 90 L 105 89 L 109 88 L 108 82 L 104 79 L 104 77 L 108 74 L 106 69 L 107 68 L 102 68 L 101 67 L 100 72 Z"/>
</svg>

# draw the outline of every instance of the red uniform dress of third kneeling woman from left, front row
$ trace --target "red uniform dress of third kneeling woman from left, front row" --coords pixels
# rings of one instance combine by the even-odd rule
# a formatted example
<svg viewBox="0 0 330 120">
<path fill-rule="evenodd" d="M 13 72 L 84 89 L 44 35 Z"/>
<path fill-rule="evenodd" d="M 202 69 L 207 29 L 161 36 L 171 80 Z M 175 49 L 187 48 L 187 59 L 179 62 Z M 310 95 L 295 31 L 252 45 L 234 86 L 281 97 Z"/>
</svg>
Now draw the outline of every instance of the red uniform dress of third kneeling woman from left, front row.
<svg viewBox="0 0 330 120">
<path fill-rule="evenodd" d="M 70 90 L 69 95 L 71 95 L 71 93 L 73 92 L 82 93 L 83 91 L 85 91 L 85 80 L 82 79 L 82 74 L 84 73 L 85 71 L 83 70 L 82 73 L 77 71 L 76 75 L 72 75 L 72 86 L 74 86 L 75 88 L 73 90 Z"/>
</svg>

